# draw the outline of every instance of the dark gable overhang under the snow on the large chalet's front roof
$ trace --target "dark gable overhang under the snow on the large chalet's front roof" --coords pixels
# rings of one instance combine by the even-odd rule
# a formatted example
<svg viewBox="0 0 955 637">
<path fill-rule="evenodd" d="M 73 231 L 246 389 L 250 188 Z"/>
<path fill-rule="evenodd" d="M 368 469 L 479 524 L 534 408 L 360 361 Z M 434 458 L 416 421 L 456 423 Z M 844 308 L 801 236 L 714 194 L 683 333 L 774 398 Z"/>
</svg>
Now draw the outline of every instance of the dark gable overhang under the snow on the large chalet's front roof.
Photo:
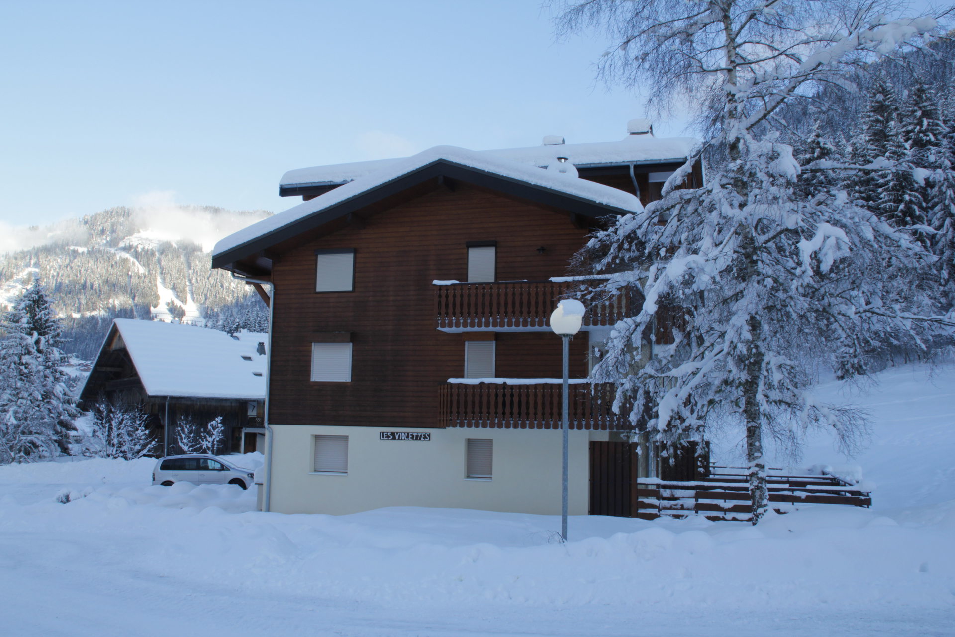
<svg viewBox="0 0 955 637">
<path fill-rule="evenodd" d="M 541 173 L 546 174 L 543 171 Z M 267 256 L 269 248 L 319 228 L 326 223 L 343 219 L 376 202 L 395 197 L 425 181 L 435 180 L 436 182 L 438 179 L 470 183 L 503 195 L 566 210 L 571 215 L 589 219 L 626 215 L 632 212 L 527 180 L 467 166 L 448 159 L 436 159 L 393 180 L 379 183 L 356 193 L 346 200 L 321 208 L 292 223 L 225 250 L 213 257 L 212 266 L 247 276 L 265 275 L 271 271 L 271 259 Z M 567 179 L 580 178 L 568 177 Z"/>
</svg>

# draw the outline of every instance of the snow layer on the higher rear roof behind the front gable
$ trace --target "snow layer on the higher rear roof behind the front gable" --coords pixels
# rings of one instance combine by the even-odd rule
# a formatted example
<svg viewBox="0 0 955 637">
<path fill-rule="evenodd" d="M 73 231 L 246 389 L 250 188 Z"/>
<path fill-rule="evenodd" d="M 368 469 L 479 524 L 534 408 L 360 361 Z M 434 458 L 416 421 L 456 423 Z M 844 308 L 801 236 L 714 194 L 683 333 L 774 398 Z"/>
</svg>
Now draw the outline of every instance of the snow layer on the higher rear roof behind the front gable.
<svg viewBox="0 0 955 637">
<path fill-rule="evenodd" d="M 647 123 L 647 126 L 649 124 Z M 627 135 L 620 141 L 583 144 L 544 144 L 527 148 L 502 148 L 475 151 L 489 158 L 510 159 L 542 168 L 558 157 L 580 167 L 622 163 L 662 163 L 687 159 L 697 140 L 694 138 L 654 138 L 652 135 Z M 374 159 L 328 166 L 289 170 L 279 181 L 281 186 L 327 185 L 357 180 L 403 159 Z"/>
</svg>

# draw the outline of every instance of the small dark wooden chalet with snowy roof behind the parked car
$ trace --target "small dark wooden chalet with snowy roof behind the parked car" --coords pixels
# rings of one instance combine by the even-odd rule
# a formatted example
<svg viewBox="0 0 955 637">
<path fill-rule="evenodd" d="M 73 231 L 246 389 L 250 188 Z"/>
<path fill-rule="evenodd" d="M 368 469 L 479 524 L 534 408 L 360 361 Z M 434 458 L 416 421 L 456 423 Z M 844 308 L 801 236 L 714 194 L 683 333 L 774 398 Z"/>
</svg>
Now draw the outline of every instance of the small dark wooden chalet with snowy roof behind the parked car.
<svg viewBox="0 0 955 637">
<path fill-rule="evenodd" d="M 80 393 L 81 406 L 105 399 L 141 407 L 166 456 L 180 453 L 174 429 L 182 418 L 202 427 L 220 415 L 220 453 L 262 451 L 266 338 L 116 319 Z"/>
</svg>

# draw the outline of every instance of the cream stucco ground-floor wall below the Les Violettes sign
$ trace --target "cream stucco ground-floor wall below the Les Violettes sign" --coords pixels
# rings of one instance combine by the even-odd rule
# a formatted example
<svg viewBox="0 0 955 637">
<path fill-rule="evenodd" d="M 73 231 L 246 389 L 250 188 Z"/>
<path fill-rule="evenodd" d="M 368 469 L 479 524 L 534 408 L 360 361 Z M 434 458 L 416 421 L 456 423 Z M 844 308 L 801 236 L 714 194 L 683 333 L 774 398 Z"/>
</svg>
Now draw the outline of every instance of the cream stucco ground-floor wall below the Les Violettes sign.
<svg viewBox="0 0 955 637">
<path fill-rule="evenodd" d="M 271 510 L 341 515 L 383 506 L 439 506 L 561 513 L 561 432 L 272 425 Z M 383 431 L 429 432 L 431 440 L 380 440 Z M 348 475 L 316 474 L 314 435 L 348 435 Z M 467 438 L 494 440 L 494 477 L 465 478 Z M 589 442 L 569 433 L 568 509 L 586 515 Z"/>
</svg>

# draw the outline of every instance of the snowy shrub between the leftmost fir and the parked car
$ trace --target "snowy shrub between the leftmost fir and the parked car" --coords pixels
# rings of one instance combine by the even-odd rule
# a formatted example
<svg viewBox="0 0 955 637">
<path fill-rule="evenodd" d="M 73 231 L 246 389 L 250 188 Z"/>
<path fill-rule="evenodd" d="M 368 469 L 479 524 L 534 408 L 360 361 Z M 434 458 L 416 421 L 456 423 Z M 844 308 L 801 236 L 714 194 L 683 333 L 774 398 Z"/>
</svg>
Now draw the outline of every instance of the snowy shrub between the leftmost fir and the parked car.
<svg viewBox="0 0 955 637">
<path fill-rule="evenodd" d="M 100 401 L 89 420 L 90 434 L 83 443 L 83 455 L 124 460 L 146 456 L 157 444 L 148 423 L 149 415 L 138 407 Z"/>
</svg>

